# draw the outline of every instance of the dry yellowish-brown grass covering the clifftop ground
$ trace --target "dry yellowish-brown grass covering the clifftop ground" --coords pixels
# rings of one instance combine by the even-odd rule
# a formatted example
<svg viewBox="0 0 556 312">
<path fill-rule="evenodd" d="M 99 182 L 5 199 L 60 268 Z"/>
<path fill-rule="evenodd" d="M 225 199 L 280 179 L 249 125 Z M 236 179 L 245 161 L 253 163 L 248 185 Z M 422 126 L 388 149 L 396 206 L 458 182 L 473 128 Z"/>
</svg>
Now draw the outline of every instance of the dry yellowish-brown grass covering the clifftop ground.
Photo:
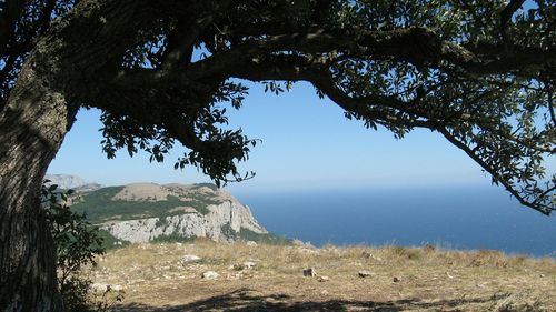
<svg viewBox="0 0 556 312">
<path fill-rule="evenodd" d="M 201 260 L 180 262 L 186 254 Z M 234 266 L 245 261 L 257 265 Z M 329 280 L 304 276 L 307 268 Z M 202 280 L 209 270 L 220 276 Z M 496 251 L 202 240 L 112 251 L 89 273 L 125 288 L 121 311 L 556 311 L 555 260 Z"/>
</svg>

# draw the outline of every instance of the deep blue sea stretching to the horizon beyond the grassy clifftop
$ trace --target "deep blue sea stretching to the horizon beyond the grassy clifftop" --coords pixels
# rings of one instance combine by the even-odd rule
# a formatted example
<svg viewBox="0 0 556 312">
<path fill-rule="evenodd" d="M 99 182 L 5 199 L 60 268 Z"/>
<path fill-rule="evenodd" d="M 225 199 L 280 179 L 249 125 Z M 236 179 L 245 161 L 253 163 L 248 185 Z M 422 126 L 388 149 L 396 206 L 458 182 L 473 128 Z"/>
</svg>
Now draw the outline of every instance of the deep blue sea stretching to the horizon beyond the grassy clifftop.
<svg viewBox="0 0 556 312">
<path fill-rule="evenodd" d="M 237 194 L 270 232 L 320 246 L 435 244 L 556 258 L 556 218 L 498 188 L 274 191 Z"/>
</svg>

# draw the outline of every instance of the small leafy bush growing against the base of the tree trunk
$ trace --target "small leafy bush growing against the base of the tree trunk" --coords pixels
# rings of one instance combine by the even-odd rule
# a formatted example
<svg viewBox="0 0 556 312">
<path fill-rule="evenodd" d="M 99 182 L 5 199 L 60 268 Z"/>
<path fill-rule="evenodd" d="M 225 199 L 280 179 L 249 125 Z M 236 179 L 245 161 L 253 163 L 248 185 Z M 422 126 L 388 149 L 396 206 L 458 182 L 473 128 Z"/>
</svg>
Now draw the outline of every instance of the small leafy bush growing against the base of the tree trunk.
<svg viewBox="0 0 556 312">
<path fill-rule="evenodd" d="M 44 181 L 44 183 L 50 181 Z M 120 293 L 105 292 L 99 299 L 91 291 L 92 281 L 81 274 L 85 265 L 96 265 L 95 258 L 102 255 L 102 238 L 99 230 L 86 220 L 85 213 L 76 213 L 67 204 L 72 190 L 60 192 L 57 185 L 42 185 L 42 203 L 54 240 L 58 268 L 58 285 L 66 311 L 107 311 L 113 301 L 121 301 Z"/>
</svg>

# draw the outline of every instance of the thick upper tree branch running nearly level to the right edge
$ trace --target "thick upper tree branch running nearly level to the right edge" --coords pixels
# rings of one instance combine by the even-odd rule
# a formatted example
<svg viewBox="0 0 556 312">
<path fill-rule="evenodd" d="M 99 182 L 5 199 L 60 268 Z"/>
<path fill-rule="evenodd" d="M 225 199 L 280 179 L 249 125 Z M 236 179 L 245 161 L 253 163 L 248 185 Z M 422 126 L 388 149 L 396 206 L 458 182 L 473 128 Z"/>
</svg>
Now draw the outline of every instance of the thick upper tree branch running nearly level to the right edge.
<svg viewBox="0 0 556 312">
<path fill-rule="evenodd" d="M 441 41 L 433 31 L 417 27 L 391 31 L 312 29 L 308 32 L 250 40 L 228 51 L 217 53 L 214 58 L 226 57 L 226 53 L 252 56 L 277 51 L 311 54 L 340 51 L 350 58 L 407 61 L 418 67 L 443 69 L 451 64 L 471 74 L 507 73 L 508 71 L 514 71 L 515 74 L 529 74 L 529 71 L 540 67 L 552 69 L 556 64 L 556 47 L 545 50 L 507 50 L 494 46 L 478 53 L 461 44 Z"/>
</svg>

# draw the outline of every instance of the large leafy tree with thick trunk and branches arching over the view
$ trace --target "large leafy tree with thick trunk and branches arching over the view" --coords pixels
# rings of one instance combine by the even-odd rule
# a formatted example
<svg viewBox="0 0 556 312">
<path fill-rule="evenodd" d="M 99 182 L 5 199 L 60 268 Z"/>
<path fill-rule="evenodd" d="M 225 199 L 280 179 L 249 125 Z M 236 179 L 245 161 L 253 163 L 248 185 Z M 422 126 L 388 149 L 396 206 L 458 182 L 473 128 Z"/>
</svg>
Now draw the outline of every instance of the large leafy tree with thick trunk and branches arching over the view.
<svg viewBox="0 0 556 312">
<path fill-rule="evenodd" d="M 0 302 L 59 311 L 46 170 L 80 108 L 103 151 L 138 150 L 217 183 L 256 141 L 224 130 L 241 80 L 307 81 L 395 137 L 429 129 L 520 203 L 555 210 L 554 0 L 7 0 L 0 3 Z M 193 51 L 202 51 L 193 58 Z"/>
</svg>

